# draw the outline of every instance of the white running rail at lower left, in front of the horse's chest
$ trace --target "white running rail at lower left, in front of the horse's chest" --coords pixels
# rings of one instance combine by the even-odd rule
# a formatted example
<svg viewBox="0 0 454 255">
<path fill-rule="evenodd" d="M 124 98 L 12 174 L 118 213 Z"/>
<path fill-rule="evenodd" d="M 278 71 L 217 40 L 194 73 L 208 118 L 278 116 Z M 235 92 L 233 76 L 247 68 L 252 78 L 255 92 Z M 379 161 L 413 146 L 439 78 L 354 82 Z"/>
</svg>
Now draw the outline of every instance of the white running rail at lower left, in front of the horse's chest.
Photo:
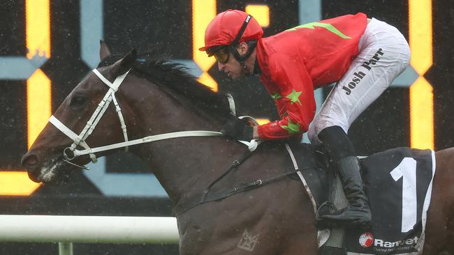
<svg viewBox="0 0 454 255">
<path fill-rule="evenodd" d="M 0 242 L 59 242 L 60 255 L 73 242 L 177 244 L 174 217 L 0 215 Z"/>
</svg>

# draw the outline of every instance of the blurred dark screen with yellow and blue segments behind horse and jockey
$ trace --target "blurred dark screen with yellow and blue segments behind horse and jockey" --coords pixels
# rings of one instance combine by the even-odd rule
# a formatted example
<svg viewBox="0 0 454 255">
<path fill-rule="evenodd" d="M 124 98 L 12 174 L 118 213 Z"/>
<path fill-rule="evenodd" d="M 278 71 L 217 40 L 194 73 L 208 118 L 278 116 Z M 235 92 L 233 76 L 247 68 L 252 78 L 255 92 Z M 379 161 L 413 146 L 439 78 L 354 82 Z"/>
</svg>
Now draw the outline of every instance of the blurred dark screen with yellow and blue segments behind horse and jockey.
<svg viewBox="0 0 454 255">
<path fill-rule="evenodd" d="M 105 157 L 59 187 L 31 182 L 20 158 L 66 95 L 96 68 L 100 39 L 115 54 L 165 52 L 214 91 L 232 93 L 240 114 L 277 118 L 256 77 L 233 81 L 197 50 L 207 23 L 230 8 L 256 17 L 264 36 L 358 12 L 396 26 L 411 40 L 411 67 L 360 115 L 349 136 L 360 155 L 398 146 L 439 150 L 454 145 L 454 9 L 449 1 L 433 1 L 432 10 L 412 13 L 409 1 L 394 0 L 6 0 L 0 7 L 0 213 L 171 216 L 172 205 L 152 169 L 133 155 Z M 315 91 L 318 105 L 331 87 Z M 75 245 L 75 254 L 177 250 L 177 245 Z M 57 249 L 0 243 L 0 254 L 57 254 Z"/>
</svg>

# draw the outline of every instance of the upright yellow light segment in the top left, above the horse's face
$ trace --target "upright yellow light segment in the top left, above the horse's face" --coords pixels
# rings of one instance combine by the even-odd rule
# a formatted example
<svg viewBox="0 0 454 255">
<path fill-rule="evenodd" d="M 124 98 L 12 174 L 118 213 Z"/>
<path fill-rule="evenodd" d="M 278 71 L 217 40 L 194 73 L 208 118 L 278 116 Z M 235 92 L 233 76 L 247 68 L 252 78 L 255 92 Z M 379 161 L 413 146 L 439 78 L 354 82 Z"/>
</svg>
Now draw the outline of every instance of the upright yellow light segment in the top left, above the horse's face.
<svg viewBox="0 0 454 255">
<path fill-rule="evenodd" d="M 27 58 L 34 55 L 50 58 L 49 0 L 25 1 Z"/>
</svg>

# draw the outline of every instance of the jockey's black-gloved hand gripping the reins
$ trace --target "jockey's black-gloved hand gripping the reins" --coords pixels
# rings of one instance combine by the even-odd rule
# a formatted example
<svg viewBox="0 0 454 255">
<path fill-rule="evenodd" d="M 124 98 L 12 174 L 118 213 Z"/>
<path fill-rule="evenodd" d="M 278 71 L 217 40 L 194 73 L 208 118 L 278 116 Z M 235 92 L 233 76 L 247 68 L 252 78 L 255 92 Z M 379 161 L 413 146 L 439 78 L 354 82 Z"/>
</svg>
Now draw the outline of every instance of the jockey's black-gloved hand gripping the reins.
<svg viewBox="0 0 454 255">
<path fill-rule="evenodd" d="M 251 123 L 236 117 L 232 117 L 224 123 L 221 133 L 240 141 L 251 141 L 254 139 L 254 127 Z"/>
</svg>

